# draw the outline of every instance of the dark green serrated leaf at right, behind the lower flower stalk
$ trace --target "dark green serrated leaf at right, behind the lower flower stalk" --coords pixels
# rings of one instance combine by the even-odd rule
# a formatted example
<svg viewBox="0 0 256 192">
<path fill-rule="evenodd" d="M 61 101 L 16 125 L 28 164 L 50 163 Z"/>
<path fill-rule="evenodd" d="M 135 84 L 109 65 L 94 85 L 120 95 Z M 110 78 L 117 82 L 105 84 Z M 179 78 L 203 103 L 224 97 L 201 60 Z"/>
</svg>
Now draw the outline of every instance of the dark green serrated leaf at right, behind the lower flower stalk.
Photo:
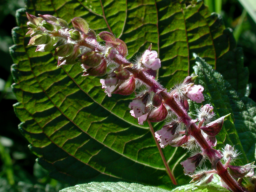
<svg viewBox="0 0 256 192">
<path fill-rule="evenodd" d="M 196 57 L 197 66 L 194 67 L 195 73 L 199 76 L 198 83 L 205 88 L 206 103 L 211 102 L 217 116 L 224 116 L 232 113 L 229 121 L 224 122 L 224 129 L 216 136 L 219 143 L 218 148 L 223 147 L 223 143 L 232 142 L 235 148 L 243 153 L 241 162 L 246 164 L 246 154 L 249 161 L 254 159 L 254 143 L 256 140 L 256 124 L 254 121 L 255 111 L 248 110 L 255 107 L 255 103 L 247 98 L 246 106 L 239 97 L 239 94 L 231 87 L 222 75 L 213 70 L 204 60 Z M 250 103 L 251 102 L 251 103 Z M 251 106 L 249 106 L 249 103 Z M 195 107 L 195 106 L 194 106 Z M 197 105 L 196 108 L 199 108 Z M 231 118 L 229 117 L 229 118 Z M 225 132 L 225 133 L 224 133 Z"/>
</svg>

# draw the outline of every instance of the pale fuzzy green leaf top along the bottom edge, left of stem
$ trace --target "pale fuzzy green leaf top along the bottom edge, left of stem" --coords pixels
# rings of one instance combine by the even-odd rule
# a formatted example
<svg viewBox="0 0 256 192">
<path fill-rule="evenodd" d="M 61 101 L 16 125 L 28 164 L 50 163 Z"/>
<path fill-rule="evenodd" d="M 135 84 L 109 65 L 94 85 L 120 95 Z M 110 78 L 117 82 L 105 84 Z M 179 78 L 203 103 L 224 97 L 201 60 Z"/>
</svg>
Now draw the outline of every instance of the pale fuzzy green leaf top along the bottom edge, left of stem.
<svg viewBox="0 0 256 192">
<path fill-rule="evenodd" d="M 92 182 L 88 184 L 79 184 L 73 187 L 67 187 L 60 190 L 60 192 L 168 192 L 168 190 L 145 186 L 137 183 L 124 183 L 124 182 Z"/>
</svg>

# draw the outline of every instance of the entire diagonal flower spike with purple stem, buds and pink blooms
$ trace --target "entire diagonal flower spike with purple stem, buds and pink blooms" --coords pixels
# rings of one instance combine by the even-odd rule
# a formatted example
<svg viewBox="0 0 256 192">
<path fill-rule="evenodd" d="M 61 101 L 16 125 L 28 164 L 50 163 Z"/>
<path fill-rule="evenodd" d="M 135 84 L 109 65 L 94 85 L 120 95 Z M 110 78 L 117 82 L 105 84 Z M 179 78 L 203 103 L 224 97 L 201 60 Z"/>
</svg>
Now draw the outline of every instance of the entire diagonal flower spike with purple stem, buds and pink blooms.
<svg viewBox="0 0 256 192">
<path fill-rule="evenodd" d="M 27 17 L 27 34 L 31 37 L 29 45 L 36 45 L 36 51 L 54 50 L 54 55 L 58 56 L 58 66 L 80 62 L 84 72 L 82 76 L 105 75 L 100 83 L 108 97 L 134 92 L 135 98 L 127 107 L 131 115 L 138 119 L 138 124 L 166 120 L 162 129 L 155 132 L 155 140 L 161 148 L 167 145 L 182 146 L 192 152 L 180 163 L 184 174 L 193 178 L 191 182 L 209 183 L 213 174 L 217 173 L 230 189 L 243 191 L 231 176 L 241 178 L 252 175 L 255 166 L 230 165 L 239 155 L 230 145 L 226 145 L 222 151 L 213 148 L 217 144 L 215 136 L 230 114 L 214 120 L 214 107 L 204 104 L 196 110 L 197 119 L 188 115 L 188 100 L 204 102 L 204 87 L 194 84 L 197 76 L 188 76 L 168 92 L 156 79 L 161 60 L 157 52 L 152 51 L 152 44 L 135 62 L 130 62 L 126 59 L 128 49 L 124 41 L 103 31 L 98 34 L 105 42 L 102 45 L 82 18 L 73 18 L 73 28 L 68 28 L 66 21 L 51 15 L 36 17 L 27 13 Z M 220 162 L 222 158 L 225 165 Z M 209 159 L 212 169 L 196 170 L 206 159 Z"/>
</svg>

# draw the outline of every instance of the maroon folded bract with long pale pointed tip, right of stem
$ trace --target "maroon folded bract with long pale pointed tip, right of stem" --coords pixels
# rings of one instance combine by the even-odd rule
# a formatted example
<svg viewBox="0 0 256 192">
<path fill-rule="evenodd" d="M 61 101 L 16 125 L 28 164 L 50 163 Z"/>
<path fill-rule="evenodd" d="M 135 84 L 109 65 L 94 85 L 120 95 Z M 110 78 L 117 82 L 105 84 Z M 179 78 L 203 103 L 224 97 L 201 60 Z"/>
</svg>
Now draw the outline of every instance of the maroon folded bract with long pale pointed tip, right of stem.
<svg viewBox="0 0 256 192">
<path fill-rule="evenodd" d="M 219 119 L 216 119 L 215 121 L 212 121 L 208 124 L 206 124 L 205 126 L 202 126 L 200 127 L 207 135 L 213 137 L 213 136 L 216 136 L 221 128 L 222 128 L 222 125 L 223 125 L 223 122 L 224 122 L 224 118 L 229 116 L 230 113 L 228 115 L 225 115 L 225 116 L 222 116 L 220 117 Z"/>
</svg>

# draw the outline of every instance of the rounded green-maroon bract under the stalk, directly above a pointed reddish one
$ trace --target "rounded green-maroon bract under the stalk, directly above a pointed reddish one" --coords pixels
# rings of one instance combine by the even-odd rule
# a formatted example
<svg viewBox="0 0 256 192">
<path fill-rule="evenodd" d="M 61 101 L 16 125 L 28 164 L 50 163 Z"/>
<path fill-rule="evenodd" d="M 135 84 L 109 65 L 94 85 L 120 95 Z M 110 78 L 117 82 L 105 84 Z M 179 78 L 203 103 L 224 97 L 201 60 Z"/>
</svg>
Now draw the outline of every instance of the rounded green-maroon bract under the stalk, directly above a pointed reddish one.
<svg viewBox="0 0 256 192">
<path fill-rule="evenodd" d="M 89 67 L 97 67 L 101 63 L 101 56 L 95 51 L 90 51 L 83 54 L 80 61 Z"/>
</svg>

